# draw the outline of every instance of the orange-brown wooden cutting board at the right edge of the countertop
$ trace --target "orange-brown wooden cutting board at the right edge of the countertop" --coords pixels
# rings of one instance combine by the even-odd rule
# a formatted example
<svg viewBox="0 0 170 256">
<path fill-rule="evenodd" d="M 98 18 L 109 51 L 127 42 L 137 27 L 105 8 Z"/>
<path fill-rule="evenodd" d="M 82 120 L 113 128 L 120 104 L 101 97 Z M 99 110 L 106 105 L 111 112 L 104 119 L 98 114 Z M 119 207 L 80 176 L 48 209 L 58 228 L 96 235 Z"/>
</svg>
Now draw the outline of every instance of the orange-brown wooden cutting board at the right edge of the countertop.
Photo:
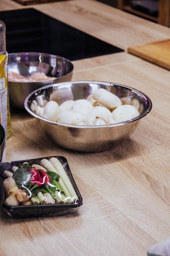
<svg viewBox="0 0 170 256">
<path fill-rule="evenodd" d="M 128 52 L 170 70 L 170 38 L 130 46 Z"/>
</svg>

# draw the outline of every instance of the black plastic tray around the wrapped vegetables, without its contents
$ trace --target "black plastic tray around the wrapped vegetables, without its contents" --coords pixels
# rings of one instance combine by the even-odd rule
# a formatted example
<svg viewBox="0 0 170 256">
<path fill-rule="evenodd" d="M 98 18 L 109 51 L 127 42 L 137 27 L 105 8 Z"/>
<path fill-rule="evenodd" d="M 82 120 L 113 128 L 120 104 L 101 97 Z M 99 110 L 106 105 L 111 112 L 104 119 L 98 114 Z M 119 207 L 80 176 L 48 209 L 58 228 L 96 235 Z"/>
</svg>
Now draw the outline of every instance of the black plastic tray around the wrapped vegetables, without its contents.
<svg viewBox="0 0 170 256">
<path fill-rule="evenodd" d="M 77 196 L 79 198 L 78 202 L 75 203 L 68 203 L 68 204 L 38 204 L 38 205 L 28 205 L 28 206 L 10 206 L 9 204 L 5 203 L 5 191 L 3 186 L 4 181 L 4 171 L 5 170 L 12 170 L 13 166 L 18 166 L 19 164 L 22 164 L 23 162 L 29 162 L 29 164 L 39 164 L 41 159 L 50 159 L 51 157 L 43 157 L 43 158 L 35 158 L 35 159 L 24 159 L 20 161 L 14 161 L 14 162 L 5 162 L 0 165 L 0 195 L 1 195 L 1 207 L 2 209 L 12 217 L 50 217 L 50 216 L 62 216 L 70 213 L 74 213 L 79 206 L 82 205 L 82 196 L 79 193 L 79 190 L 77 188 L 77 185 L 75 184 L 75 181 L 73 179 L 72 173 L 70 171 L 70 168 L 68 166 L 68 162 L 65 157 L 62 156 L 55 156 L 64 167 L 64 170 L 66 171 L 66 174 L 68 175 L 75 192 L 77 193 Z"/>
</svg>

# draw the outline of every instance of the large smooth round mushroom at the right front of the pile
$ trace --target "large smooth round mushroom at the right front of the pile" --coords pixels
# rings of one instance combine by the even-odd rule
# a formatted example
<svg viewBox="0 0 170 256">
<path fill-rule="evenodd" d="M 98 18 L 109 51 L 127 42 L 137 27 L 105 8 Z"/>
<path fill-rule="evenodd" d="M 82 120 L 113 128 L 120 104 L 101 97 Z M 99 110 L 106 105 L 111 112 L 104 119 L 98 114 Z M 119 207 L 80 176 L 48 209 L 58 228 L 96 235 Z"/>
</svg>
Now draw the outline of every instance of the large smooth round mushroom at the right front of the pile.
<svg viewBox="0 0 170 256">
<path fill-rule="evenodd" d="M 132 105 L 121 105 L 112 112 L 115 121 L 124 122 L 139 116 L 139 111 Z"/>
</svg>

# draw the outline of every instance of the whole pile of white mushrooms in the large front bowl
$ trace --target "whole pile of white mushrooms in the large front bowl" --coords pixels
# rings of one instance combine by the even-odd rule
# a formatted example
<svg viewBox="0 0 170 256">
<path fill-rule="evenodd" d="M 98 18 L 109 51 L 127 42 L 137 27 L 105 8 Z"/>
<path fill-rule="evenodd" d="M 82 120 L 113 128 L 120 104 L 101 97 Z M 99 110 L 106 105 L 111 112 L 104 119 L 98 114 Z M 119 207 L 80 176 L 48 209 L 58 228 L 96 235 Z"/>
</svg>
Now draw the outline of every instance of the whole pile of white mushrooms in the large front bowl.
<svg viewBox="0 0 170 256">
<path fill-rule="evenodd" d="M 64 101 L 60 106 L 50 100 L 44 108 L 33 102 L 31 110 L 40 117 L 62 124 L 99 126 L 127 121 L 139 116 L 139 110 L 124 104 L 115 94 L 99 88 L 87 99 Z"/>
</svg>

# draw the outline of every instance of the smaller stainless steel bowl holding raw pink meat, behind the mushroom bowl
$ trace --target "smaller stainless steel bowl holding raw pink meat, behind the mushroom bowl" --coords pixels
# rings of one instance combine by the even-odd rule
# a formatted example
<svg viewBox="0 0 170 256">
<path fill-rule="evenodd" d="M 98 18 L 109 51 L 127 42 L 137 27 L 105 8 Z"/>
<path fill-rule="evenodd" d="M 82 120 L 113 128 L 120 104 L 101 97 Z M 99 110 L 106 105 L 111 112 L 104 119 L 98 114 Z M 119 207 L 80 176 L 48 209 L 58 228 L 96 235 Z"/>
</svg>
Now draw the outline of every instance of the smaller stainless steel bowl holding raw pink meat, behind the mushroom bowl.
<svg viewBox="0 0 170 256">
<path fill-rule="evenodd" d="M 24 99 L 34 90 L 53 83 L 71 81 L 73 63 L 68 59 L 45 53 L 18 52 L 8 56 L 8 71 L 28 77 L 35 72 L 43 72 L 55 79 L 38 82 L 8 82 L 10 104 L 24 109 Z"/>
</svg>

